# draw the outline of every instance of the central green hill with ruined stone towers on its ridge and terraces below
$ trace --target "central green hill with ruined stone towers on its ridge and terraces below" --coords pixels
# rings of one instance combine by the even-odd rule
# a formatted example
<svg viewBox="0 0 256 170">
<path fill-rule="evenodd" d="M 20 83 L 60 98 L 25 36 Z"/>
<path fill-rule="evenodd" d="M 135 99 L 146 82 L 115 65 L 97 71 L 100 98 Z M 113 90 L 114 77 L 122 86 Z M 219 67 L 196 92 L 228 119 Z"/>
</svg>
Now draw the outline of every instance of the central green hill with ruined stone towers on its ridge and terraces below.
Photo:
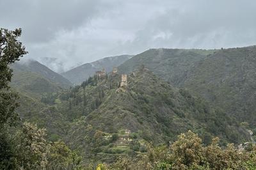
<svg viewBox="0 0 256 170">
<path fill-rule="evenodd" d="M 55 96 L 58 102 L 52 105 L 71 123 L 65 140 L 86 162 L 138 154 L 146 151 L 147 143 L 168 143 L 189 129 L 205 144 L 213 136 L 221 137 L 222 144 L 248 140 L 248 132 L 236 120 L 202 98 L 173 88 L 147 68 L 129 75 L 125 87 L 120 81 L 118 73 L 95 75 Z"/>
</svg>

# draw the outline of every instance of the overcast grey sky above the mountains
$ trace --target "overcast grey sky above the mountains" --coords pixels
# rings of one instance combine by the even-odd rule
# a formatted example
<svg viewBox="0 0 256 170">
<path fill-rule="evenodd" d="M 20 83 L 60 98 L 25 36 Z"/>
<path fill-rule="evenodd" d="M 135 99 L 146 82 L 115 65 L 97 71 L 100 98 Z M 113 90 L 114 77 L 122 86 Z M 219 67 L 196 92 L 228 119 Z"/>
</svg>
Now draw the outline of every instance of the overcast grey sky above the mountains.
<svg viewBox="0 0 256 170">
<path fill-rule="evenodd" d="M 255 0 L 0 0 L 0 27 L 56 72 L 150 48 L 256 45 Z"/>
</svg>

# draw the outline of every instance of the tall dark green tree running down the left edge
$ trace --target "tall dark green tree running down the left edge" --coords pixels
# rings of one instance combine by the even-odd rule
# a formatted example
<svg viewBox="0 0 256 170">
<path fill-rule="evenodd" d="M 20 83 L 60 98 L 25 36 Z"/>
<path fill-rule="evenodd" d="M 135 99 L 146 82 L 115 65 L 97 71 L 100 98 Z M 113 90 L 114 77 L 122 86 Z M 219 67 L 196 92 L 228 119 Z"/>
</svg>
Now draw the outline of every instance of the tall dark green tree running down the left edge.
<svg viewBox="0 0 256 170">
<path fill-rule="evenodd" d="M 9 65 L 27 53 L 17 39 L 20 35 L 21 29 L 8 31 L 0 28 L 0 169 L 15 169 L 17 166 L 9 128 L 19 120 L 15 112 L 19 96 L 10 90 L 12 69 Z"/>
</svg>

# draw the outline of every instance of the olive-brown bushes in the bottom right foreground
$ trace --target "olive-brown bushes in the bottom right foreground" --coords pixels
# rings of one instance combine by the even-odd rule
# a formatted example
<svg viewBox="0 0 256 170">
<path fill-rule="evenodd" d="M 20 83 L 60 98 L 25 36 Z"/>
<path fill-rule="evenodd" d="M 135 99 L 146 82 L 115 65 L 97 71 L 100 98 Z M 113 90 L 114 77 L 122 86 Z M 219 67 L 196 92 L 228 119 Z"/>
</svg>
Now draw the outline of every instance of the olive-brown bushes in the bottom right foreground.
<svg viewBox="0 0 256 170">
<path fill-rule="evenodd" d="M 97 169 L 256 169 L 256 146 L 239 150 L 233 144 L 221 148 L 218 143 L 214 138 L 205 146 L 189 130 L 170 146 L 148 146 L 145 155 L 123 157 L 114 164 L 99 164 Z"/>
</svg>

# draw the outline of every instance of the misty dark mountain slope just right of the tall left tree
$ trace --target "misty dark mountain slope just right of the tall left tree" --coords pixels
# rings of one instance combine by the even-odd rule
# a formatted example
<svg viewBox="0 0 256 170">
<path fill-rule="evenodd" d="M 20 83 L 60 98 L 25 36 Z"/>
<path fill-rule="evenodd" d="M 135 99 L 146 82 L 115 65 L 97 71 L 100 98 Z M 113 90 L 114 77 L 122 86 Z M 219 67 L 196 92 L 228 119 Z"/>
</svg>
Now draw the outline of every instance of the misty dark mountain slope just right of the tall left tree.
<svg viewBox="0 0 256 170">
<path fill-rule="evenodd" d="M 47 66 L 42 65 L 38 61 L 26 61 L 26 63 L 15 63 L 12 65 L 12 68 L 14 70 L 14 75 L 19 75 L 20 73 L 36 73 L 37 75 L 40 75 L 44 77 L 45 79 L 48 79 L 51 82 L 54 82 L 61 88 L 69 88 L 69 86 L 72 86 L 71 82 L 65 79 L 60 74 L 52 71 L 50 68 L 47 68 Z M 17 77 L 17 76 L 15 76 Z M 15 79 L 15 77 L 13 79 Z M 19 77 L 20 79 L 22 77 Z"/>
</svg>

